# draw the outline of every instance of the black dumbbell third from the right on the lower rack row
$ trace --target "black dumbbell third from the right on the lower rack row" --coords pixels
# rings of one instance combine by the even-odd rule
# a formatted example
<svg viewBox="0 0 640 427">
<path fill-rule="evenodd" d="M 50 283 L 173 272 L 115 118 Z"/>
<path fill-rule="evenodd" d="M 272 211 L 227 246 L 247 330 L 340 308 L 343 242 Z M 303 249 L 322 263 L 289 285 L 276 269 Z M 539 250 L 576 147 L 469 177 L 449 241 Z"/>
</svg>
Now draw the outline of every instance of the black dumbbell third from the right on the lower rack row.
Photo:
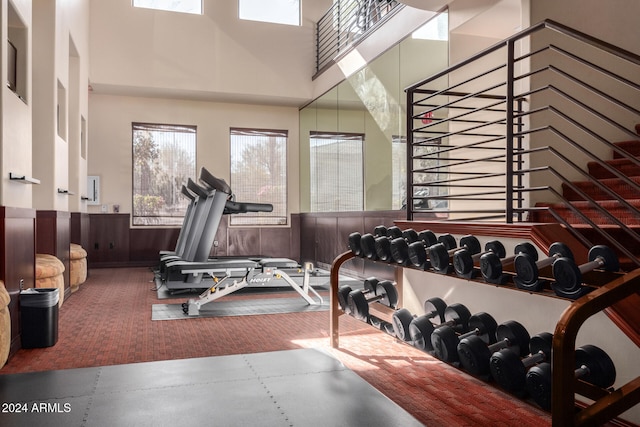
<svg viewBox="0 0 640 427">
<path fill-rule="evenodd" d="M 470 336 L 460 340 L 458 344 L 458 357 L 462 367 L 472 375 L 489 375 L 489 360 L 493 353 L 503 348 L 508 348 L 524 357 L 529 352 L 529 332 L 515 320 L 509 320 L 498 325 L 496 330 L 496 342 L 485 343 L 480 337 Z"/>
</svg>

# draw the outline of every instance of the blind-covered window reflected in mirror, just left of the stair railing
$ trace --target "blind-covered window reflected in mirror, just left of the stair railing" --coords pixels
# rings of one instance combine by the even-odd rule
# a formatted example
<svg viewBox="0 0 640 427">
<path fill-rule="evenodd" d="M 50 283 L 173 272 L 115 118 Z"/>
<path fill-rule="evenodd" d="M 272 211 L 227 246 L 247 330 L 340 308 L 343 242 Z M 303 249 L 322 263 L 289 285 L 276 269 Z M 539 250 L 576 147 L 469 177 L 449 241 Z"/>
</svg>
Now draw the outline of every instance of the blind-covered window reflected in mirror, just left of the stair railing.
<svg viewBox="0 0 640 427">
<path fill-rule="evenodd" d="M 311 212 L 364 209 L 363 134 L 311 132 Z"/>
</svg>

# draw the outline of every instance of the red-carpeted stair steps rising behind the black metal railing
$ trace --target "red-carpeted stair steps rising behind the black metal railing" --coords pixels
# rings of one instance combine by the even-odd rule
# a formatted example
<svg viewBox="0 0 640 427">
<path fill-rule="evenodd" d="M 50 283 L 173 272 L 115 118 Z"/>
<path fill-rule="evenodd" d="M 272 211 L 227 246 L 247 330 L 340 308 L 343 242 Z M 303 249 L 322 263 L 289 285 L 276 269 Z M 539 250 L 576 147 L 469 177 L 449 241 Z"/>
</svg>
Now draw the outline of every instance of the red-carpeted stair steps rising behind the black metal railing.
<svg viewBox="0 0 640 427">
<path fill-rule="evenodd" d="M 635 130 L 636 133 L 640 135 L 640 124 L 635 126 Z M 640 159 L 640 138 L 616 142 L 614 145 L 626 151 L 629 155 Z M 605 160 L 605 163 L 622 173 L 635 184 L 640 185 L 640 166 L 628 158 L 624 158 L 617 151 L 614 150 L 611 160 Z M 609 168 L 603 167 L 600 163 L 589 162 L 587 164 L 587 170 L 594 180 L 599 181 L 600 184 L 609 191 L 595 186 L 593 181 L 571 181 L 562 184 L 562 195 L 566 200 L 570 201 L 571 205 L 579 210 L 580 213 L 600 228 L 606 230 L 609 236 L 603 236 L 601 233 L 598 233 L 596 229 L 587 224 L 581 215 L 577 214 L 566 203 L 537 203 L 536 207 L 545 209 L 532 212 L 531 221 L 556 222 L 556 219 L 550 213 L 554 211 L 569 223 L 576 232 L 591 242 L 592 245 L 607 245 L 613 248 L 620 258 L 621 269 L 631 271 L 638 267 L 637 264 L 618 250 L 616 245 L 621 244 L 625 246 L 638 258 L 640 258 L 640 245 L 629 236 L 627 230 L 612 221 L 610 216 L 603 214 L 592 202 L 585 201 L 580 193 L 589 196 L 595 201 L 599 208 L 604 209 L 608 214 L 617 218 L 633 232 L 639 233 L 640 217 L 635 212 L 630 211 L 623 203 L 616 200 L 611 193 L 617 194 L 629 205 L 640 209 L 640 190 L 638 190 L 637 187 L 629 185 L 622 178 L 615 176 Z"/>
</svg>

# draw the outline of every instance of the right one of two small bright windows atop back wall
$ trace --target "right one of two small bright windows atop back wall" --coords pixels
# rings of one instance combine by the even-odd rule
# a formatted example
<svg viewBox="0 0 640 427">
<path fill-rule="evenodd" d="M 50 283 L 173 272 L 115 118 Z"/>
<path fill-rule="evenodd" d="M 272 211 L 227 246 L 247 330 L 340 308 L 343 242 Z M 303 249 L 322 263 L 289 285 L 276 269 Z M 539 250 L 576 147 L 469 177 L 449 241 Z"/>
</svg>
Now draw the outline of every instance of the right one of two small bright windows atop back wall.
<svg viewBox="0 0 640 427">
<path fill-rule="evenodd" d="M 300 25 L 300 0 L 238 0 L 240 19 Z"/>
</svg>

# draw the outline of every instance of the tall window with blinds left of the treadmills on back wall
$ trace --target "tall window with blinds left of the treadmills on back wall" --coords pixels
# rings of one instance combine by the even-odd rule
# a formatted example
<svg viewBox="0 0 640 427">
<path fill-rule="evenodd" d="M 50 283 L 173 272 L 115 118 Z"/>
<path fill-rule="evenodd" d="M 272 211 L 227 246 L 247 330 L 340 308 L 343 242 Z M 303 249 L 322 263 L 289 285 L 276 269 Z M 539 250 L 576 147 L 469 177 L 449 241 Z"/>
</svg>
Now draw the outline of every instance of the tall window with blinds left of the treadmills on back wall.
<svg viewBox="0 0 640 427">
<path fill-rule="evenodd" d="M 181 225 L 196 176 L 196 127 L 132 123 L 133 225 Z"/>
</svg>

